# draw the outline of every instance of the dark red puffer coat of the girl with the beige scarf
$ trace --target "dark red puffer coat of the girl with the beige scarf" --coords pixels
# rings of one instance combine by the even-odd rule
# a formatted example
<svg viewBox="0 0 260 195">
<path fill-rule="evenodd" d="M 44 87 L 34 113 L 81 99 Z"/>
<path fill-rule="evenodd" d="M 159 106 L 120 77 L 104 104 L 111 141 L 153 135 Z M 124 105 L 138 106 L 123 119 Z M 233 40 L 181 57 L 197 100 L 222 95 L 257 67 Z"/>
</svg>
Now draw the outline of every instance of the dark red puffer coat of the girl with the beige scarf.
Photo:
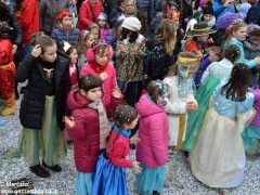
<svg viewBox="0 0 260 195">
<path fill-rule="evenodd" d="M 112 96 L 110 105 L 105 107 L 107 115 L 122 102 L 122 98 Z M 100 122 L 96 109 L 88 107 L 91 102 L 76 89 L 68 94 L 67 104 L 76 126 L 66 126 L 68 136 L 74 140 L 74 156 L 76 169 L 79 172 L 94 172 L 100 155 Z"/>
</svg>

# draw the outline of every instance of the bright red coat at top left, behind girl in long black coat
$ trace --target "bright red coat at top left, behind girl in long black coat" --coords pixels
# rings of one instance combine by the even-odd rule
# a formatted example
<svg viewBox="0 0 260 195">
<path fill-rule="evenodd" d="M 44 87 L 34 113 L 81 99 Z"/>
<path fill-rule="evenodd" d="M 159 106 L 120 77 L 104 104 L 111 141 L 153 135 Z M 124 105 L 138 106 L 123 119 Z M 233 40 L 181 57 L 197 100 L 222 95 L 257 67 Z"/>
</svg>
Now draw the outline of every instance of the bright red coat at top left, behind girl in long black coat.
<svg viewBox="0 0 260 195">
<path fill-rule="evenodd" d="M 15 14 L 23 29 L 23 44 L 29 44 L 30 36 L 39 31 L 39 10 L 36 0 L 23 0 L 22 10 Z"/>
</svg>

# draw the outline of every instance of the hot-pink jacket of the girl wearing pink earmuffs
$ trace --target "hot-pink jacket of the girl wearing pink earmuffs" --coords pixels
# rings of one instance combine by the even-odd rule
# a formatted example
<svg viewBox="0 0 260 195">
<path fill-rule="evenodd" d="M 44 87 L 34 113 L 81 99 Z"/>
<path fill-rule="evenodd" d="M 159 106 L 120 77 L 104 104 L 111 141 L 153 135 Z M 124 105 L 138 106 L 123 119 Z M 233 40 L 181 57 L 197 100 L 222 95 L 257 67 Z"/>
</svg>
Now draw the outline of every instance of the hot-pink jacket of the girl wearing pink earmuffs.
<svg viewBox="0 0 260 195">
<path fill-rule="evenodd" d="M 102 102 L 104 106 L 107 106 L 110 103 L 110 95 L 114 89 L 117 87 L 116 70 L 113 65 L 108 64 L 104 72 L 108 75 L 108 78 L 103 81 L 104 98 Z M 100 76 L 100 74 L 96 74 L 94 69 L 91 68 L 89 65 L 82 67 L 82 69 L 80 70 L 80 77 L 83 77 L 87 74 L 92 74 L 96 77 Z"/>
</svg>

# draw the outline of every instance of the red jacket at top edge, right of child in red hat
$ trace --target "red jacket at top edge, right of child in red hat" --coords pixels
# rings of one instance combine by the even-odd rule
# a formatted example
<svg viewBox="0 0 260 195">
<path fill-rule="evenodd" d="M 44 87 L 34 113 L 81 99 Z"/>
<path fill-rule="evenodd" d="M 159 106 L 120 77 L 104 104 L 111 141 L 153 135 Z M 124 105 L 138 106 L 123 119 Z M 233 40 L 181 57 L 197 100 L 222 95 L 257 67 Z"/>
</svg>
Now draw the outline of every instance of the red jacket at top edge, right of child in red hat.
<svg viewBox="0 0 260 195">
<path fill-rule="evenodd" d="M 78 29 L 83 30 L 92 25 L 92 23 L 98 24 L 98 17 L 102 11 L 103 8 L 100 1 L 96 1 L 94 5 L 91 5 L 90 1 L 82 2 L 79 11 Z"/>
</svg>

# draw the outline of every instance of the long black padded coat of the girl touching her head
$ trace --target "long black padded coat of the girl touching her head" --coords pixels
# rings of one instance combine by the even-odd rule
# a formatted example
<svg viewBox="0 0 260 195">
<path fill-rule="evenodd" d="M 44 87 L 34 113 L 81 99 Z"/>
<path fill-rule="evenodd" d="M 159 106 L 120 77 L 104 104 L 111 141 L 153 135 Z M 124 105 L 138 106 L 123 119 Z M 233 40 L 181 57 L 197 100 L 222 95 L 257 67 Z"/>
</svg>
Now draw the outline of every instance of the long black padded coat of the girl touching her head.
<svg viewBox="0 0 260 195">
<path fill-rule="evenodd" d="M 46 103 L 46 81 L 42 61 L 28 54 L 21 63 L 15 79 L 24 82 L 28 79 L 27 89 L 21 103 L 20 120 L 23 127 L 41 129 Z M 69 116 L 67 95 L 70 90 L 69 80 L 70 60 L 57 53 L 55 66 L 55 100 L 56 115 L 61 130 L 64 128 L 63 116 Z"/>
</svg>

